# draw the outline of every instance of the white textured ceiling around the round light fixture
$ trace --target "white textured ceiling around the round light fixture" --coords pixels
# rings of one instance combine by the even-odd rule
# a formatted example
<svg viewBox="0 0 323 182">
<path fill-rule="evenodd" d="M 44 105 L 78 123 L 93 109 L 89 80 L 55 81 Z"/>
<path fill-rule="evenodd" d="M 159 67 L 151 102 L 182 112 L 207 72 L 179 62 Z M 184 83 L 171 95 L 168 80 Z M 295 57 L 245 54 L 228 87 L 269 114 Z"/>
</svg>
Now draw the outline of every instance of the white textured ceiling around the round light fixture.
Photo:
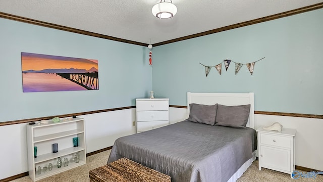
<svg viewBox="0 0 323 182">
<path fill-rule="evenodd" d="M 0 0 L 0 12 L 153 44 L 323 0 L 173 0 L 178 12 L 171 19 L 152 15 L 151 8 L 158 2 L 160 0 Z"/>
</svg>

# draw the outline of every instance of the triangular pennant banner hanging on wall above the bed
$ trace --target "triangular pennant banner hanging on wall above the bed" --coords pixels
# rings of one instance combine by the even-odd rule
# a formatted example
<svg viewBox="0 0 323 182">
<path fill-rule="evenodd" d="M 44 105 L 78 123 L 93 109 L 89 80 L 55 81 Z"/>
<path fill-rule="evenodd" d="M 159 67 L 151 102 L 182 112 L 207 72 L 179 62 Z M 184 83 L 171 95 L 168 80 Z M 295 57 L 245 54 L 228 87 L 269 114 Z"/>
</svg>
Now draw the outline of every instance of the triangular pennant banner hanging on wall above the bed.
<svg viewBox="0 0 323 182">
<path fill-rule="evenodd" d="M 264 57 L 263 57 L 263 58 L 261 58 L 261 59 L 259 59 L 258 61 L 260 61 L 260 60 L 262 60 L 262 59 L 264 59 Z M 231 62 L 234 62 L 234 61 L 232 61 L 232 60 L 223 60 L 223 62 L 224 62 L 224 66 L 225 66 L 226 71 L 227 71 L 227 70 L 228 70 L 228 68 L 229 68 L 230 63 L 231 63 Z M 254 65 L 255 65 L 255 63 L 256 63 L 256 62 L 257 62 L 257 61 L 252 62 L 252 63 L 236 63 L 236 62 L 234 62 L 234 63 L 235 63 L 235 71 L 236 71 L 236 74 L 239 72 L 240 68 L 245 64 L 245 65 L 247 66 L 247 68 L 248 68 L 248 70 L 249 70 L 250 74 L 252 75 L 252 73 L 253 73 L 253 69 L 254 69 Z M 203 65 L 202 63 L 199 63 L 199 64 Z M 208 73 L 210 72 L 210 70 L 211 70 L 211 68 L 212 68 L 213 66 L 205 66 L 205 65 L 203 65 L 203 66 L 205 67 L 205 75 L 207 76 L 207 75 L 208 75 Z M 219 72 L 219 74 L 221 75 L 221 71 L 222 71 L 222 62 L 221 62 L 220 64 L 218 64 L 218 65 L 214 66 L 214 67 L 217 69 L 217 71 L 218 71 L 218 72 Z"/>
</svg>

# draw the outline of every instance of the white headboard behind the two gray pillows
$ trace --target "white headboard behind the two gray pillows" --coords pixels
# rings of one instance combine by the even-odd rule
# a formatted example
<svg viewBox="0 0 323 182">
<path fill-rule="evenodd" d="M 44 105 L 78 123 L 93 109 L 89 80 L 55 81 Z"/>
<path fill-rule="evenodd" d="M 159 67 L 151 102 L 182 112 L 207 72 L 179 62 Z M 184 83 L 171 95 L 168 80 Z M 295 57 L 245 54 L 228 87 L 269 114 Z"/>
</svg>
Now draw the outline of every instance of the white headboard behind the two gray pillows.
<svg viewBox="0 0 323 182">
<path fill-rule="evenodd" d="M 250 104 L 249 120 L 246 126 L 254 128 L 254 100 L 253 93 L 187 93 L 187 113 L 190 104 L 237 106 Z M 188 117 L 187 116 L 187 117 Z"/>
</svg>

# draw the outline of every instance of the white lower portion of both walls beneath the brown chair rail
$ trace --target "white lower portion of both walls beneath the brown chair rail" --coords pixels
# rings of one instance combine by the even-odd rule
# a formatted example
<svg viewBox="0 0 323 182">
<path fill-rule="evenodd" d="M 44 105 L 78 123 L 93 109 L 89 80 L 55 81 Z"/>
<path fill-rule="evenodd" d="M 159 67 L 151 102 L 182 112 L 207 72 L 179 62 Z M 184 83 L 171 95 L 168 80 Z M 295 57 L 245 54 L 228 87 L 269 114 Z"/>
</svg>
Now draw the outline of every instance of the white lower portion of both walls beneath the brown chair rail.
<svg viewBox="0 0 323 182">
<path fill-rule="evenodd" d="M 78 116 L 85 119 L 87 153 L 113 146 L 121 136 L 134 134 L 136 109 L 125 109 Z M 170 123 L 187 118 L 187 109 L 170 108 Z M 255 115 L 255 127 L 280 122 L 297 130 L 295 136 L 296 165 L 323 171 L 323 119 Z M 0 126 L 0 179 L 28 171 L 26 124 Z M 107 156 L 108 157 L 108 156 Z"/>
</svg>

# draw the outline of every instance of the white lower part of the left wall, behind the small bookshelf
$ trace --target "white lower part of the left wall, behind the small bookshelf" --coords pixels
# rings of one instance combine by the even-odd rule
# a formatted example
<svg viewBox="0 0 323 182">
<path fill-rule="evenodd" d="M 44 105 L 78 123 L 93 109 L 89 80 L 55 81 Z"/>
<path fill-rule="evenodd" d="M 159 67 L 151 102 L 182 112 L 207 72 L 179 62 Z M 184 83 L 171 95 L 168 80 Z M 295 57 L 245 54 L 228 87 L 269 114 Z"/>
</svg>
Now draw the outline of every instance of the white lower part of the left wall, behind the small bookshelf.
<svg viewBox="0 0 323 182">
<path fill-rule="evenodd" d="M 78 116 L 85 120 L 86 153 L 113 146 L 121 136 L 134 134 L 136 109 L 125 109 Z M 28 171 L 26 125 L 0 126 L 0 179 Z M 107 161 L 106 156 L 106 161 Z"/>
</svg>

